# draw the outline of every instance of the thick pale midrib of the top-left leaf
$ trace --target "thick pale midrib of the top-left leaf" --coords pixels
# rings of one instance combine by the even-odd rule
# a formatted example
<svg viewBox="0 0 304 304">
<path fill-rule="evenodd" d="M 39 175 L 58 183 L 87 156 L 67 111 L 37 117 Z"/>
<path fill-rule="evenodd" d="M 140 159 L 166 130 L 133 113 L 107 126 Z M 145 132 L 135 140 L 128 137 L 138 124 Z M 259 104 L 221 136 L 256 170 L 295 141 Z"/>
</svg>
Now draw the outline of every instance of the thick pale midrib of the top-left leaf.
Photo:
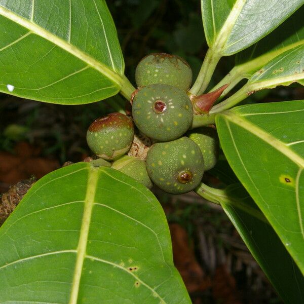
<svg viewBox="0 0 304 304">
<path fill-rule="evenodd" d="M 33 33 L 43 37 L 47 41 L 55 44 L 56 46 L 60 47 L 61 49 L 65 50 L 66 52 L 74 55 L 75 57 L 79 58 L 80 60 L 86 62 L 88 65 L 92 66 L 100 73 L 105 75 L 107 78 L 115 82 L 119 87 L 121 87 L 122 77 L 118 73 L 109 69 L 105 64 L 101 63 L 100 61 L 95 60 L 94 58 L 90 57 L 86 53 L 79 50 L 77 47 L 72 46 L 68 42 L 60 39 L 58 36 L 50 33 L 46 29 L 40 27 L 39 25 L 26 20 L 13 12 L 5 9 L 4 7 L 0 6 L 0 14 L 4 17 L 18 23 L 19 25 L 27 28 L 28 30 L 32 31 Z"/>
</svg>

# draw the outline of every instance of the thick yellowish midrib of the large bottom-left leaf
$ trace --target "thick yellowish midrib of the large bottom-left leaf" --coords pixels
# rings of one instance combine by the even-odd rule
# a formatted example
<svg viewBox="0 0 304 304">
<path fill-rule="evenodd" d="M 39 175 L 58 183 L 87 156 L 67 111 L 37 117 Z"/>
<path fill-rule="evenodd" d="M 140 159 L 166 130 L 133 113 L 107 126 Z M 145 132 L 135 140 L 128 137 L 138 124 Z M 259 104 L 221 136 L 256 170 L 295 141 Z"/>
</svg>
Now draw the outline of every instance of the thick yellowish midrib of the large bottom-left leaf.
<svg viewBox="0 0 304 304">
<path fill-rule="evenodd" d="M 79 243 L 77 247 L 77 258 L 76 258 L 73 283 L 72 283 L 71 295 L 69 301 L 70 304 L 76 304 L 78 301 L 80 279 L 81 279 L 83 263 L 86 255 L 89 228 L 90 228 L 98 176 L 99 176 L 98 168 L 91 167 L 89 171 L 81 232 L 80 232 Z"/>
</svg>

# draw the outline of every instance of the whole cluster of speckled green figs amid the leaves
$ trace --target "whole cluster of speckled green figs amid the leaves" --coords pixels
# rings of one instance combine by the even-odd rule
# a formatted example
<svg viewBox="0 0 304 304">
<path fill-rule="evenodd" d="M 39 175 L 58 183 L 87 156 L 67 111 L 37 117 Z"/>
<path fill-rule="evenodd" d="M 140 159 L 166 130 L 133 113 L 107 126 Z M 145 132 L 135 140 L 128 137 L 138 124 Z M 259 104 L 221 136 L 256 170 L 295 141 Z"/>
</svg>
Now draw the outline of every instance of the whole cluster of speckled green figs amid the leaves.
<svg viewBox="0 0 304 304">
<path fill-rule="evenodd" d="M 101 165 L 148 188 L 156 184 L 172 194 L 192 191 L 204 171 L 214 167 L 219 144 L 212 126 L 189 130 L 195 115 L 187 94 L 191 68 L 179 56 L 155 53 L 139 62 L 135 79 L 132 111 L 95 120 L 87 132 L 89 147 Z"/>
</svg>

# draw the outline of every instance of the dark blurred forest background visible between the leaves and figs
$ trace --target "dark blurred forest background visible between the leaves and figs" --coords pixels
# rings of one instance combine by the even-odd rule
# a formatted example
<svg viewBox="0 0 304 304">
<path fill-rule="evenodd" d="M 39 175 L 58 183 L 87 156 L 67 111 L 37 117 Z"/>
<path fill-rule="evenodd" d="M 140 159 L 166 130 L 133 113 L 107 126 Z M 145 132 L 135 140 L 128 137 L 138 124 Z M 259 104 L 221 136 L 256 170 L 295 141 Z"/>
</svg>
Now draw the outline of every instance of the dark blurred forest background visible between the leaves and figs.
<svg viewBox="0 0 304 304">
<path fill-rule="evenodd" d="M 185 58 L 196 77 L 207 51 L 199 0 L 107 3 L 118 28 L 126 75 L 133 84 L 136 64 L 152 52 Z M 222 58 L 210 86 L 233 65 L 234 56 Z M 246 102 L 301 98 L 301 88 L 280 87 L 260 91 Z M 110 104 L 111 100 L 52 105 L 1 94 L 0 192 L 31 174 L 40 178 L 65 161 L 79 162 L 91 155 L 85 140 L 87 128 L 97 117 L 115 110 Z M 208 174 L 205 179 L 218 184 Z M 219 206 L 195 193 L 171 196 L 154 190 L 170 222 L 175 264 L 194 303 L 280 302 Z"/>
</svg>

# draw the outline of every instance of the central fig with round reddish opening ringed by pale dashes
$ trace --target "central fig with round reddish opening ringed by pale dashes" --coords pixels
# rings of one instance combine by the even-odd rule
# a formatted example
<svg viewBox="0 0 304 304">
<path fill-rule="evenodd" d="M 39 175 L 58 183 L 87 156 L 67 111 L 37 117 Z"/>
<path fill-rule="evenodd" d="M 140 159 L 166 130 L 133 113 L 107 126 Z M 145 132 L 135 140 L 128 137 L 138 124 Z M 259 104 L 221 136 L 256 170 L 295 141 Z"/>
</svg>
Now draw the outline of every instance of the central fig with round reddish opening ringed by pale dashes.
<svg viewBox="0 0 304 304">
<path fill-rule="evenodd" d="M 133 98 L 132 115 L 138 129 L 159 141 L 183 135 L 193 121 L 193 106 L 188 95 L 168 85 L 150 85 Z"/>
</svg>

